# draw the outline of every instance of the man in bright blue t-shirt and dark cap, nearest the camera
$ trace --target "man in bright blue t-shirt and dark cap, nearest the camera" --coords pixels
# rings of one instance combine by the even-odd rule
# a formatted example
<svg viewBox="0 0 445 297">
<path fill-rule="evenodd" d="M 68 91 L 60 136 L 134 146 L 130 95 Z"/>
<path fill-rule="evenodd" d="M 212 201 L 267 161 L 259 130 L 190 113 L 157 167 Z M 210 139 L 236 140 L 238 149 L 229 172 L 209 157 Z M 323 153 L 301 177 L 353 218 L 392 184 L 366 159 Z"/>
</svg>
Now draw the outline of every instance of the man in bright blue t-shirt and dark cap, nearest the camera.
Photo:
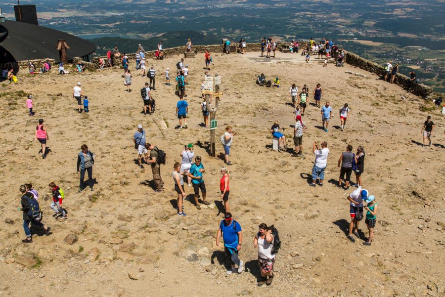
<svg viewBox="0 0 445 297">
<path fill-rule="evenodd" d="M 231 213 L 226 213 L 224 220 L 219 224 L 219 229 L 216 233 L 216 246 L 219 246 L 221 233 L 222 239 L 224 239 L 224 249 L 232 264 L 232 269 L 228 270 L 227 274 L 237 272 L 235 265 L 238 265 L 238 273 L 243 272 L 244 263 L 238 258 L 238 252 L 243 242 L 243 233 L 240 224 L 233 220 Z"/>
</svg>

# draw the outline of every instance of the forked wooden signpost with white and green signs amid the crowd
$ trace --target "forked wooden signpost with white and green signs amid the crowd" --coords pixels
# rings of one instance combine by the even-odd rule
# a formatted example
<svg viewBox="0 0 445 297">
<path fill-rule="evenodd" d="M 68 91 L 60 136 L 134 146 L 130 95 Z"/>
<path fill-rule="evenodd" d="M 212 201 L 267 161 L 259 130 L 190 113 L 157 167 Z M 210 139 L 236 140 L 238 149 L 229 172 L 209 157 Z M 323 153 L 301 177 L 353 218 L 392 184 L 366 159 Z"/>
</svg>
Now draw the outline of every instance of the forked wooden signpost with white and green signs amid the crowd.
<svg viewBox="0 0 445 297">
<path fill-rule="evenodd" d="M 207 110 L 210 113 L 210 156 L 216 156 L 215 149 L 215 133 L 217 127 L 217 121 L 215 119 L 216 111 L 218 110 L 219 100 L 222 97 L 222 93 L 219 92 L 219 84 L 221 83 L 221 77 L 215 74 L 215 93 L 213 93 L 213 77 L 205 77 L 204 81 L 204 91 L 202 92 L 205 96 L 205 104 Z M 211 100 L 211 97 L 213 97 Z M 214 106 L 212 105 L 214 102 Z"/>
</svg>

